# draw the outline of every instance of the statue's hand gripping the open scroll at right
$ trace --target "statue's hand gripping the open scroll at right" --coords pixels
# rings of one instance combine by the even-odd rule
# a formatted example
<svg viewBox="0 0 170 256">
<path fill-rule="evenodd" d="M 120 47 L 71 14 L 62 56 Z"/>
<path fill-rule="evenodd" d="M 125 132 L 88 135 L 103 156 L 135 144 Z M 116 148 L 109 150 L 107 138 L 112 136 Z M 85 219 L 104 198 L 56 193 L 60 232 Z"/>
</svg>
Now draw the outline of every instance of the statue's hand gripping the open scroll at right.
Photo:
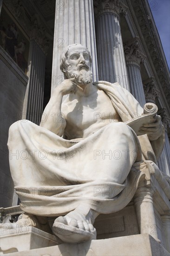
<svg viewBox="0 0 170 256">
<path fill-rule="evenodd" d="M 162 129 L 161 117 L 156 115 L 155 121 L 143 124 L 139 132 L 143 135 L 147 134 L 150 141 L 155 141 L 161 136 Z"/>
</svg>

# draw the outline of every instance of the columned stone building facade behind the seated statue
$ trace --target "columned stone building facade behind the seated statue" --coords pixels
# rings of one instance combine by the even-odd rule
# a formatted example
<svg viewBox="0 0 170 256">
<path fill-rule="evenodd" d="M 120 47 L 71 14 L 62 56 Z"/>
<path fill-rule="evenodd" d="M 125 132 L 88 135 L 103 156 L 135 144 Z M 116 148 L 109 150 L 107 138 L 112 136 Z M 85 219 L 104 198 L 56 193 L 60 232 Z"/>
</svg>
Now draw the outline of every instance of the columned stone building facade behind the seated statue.
<svg viewBox="0 0 170 256">
<path fill-rule="evenodd" d="M 8 157 L 26 157 L 25 152 L 8 153 L 8 129 L 20 119 L 39 125 L 50 94 L 64 79 L 59 56 L 73 43 L 90 50 L 93 81 L 118 82 L 142 107 L 157 105 L 165 128 L 157 164 L 163 177 L 170 176 L 170 72 L 147 0 L 1 0 L 0 23 L 1 207 L 18 204 Z M 157 238 L 170 250 L 167 194 L 154 184 L 162 198 L 154 201 Z M 129 206 L 134 215 L 140 200 Z M 106 238 L 117 236 L 109 234 Z"/>
</svg>

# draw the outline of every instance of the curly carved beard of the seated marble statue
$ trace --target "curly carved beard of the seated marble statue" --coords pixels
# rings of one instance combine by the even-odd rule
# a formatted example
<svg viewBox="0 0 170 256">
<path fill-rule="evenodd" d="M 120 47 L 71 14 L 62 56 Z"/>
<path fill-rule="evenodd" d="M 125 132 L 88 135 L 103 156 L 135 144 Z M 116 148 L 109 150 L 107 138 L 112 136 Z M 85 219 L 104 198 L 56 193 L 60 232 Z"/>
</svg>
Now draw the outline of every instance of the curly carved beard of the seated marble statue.
<svg viewBox="0 0 170 256">
<path fill-rule="evenodd" d="M 76 83 L 79 86 L 88 85 L 92 82 L 92 72 L 91 70 L 81 69 L 78 68 L 74 69 L 71 66 L 67 68 L 67 76 L 68 78 L 75 78 Z"/>
</svg>

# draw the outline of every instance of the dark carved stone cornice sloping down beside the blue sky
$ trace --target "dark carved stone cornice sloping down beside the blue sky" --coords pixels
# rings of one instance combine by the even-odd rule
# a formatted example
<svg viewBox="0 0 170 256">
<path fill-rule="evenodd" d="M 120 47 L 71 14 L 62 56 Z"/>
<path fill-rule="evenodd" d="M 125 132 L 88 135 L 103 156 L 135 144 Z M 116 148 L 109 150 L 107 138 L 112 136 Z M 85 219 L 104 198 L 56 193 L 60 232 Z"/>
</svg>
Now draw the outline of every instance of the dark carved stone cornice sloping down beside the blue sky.
<svg viewBox="0 0 170 256">
<path fill-rule="evenodd" d="M 163 53 L 163 48 L 157 33 L 150 7 L 145 0 L 126 0 L 131 11 L 130 6 L 133 7 L 132 15 L 135 15 L 135 22 L 138 22 L 140 31 L 142 32 L 145 47 L 150 55 L 151 61 L 154 65 L 154 74 L 159 80 L 160 90 L 166 97 L 166 106 L 170 106 L 170 73 Z M 138 29 L 138 28 L 137 28 Z M 148 59 L 150 59 L 148 56 Z"/>
</svg>

